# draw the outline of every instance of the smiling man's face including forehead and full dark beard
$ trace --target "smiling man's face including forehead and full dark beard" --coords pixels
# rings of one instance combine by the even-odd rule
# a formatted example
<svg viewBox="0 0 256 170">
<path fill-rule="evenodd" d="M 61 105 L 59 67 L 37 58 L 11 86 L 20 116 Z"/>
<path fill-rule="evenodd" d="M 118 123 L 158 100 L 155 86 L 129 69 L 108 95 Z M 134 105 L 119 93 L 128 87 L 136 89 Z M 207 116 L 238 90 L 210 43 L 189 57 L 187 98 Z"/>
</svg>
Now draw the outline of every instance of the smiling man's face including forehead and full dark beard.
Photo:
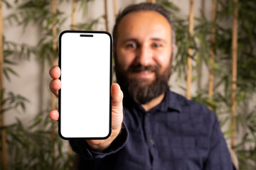
<svg viewBox="0 0 256 170">
<path fill-rule="evenodd" d="M 132 12 L 117 27 L 117 82 L 137 103 L 148 103 L 168 88 L 171 26 L 154 11 Z"/>
</svg>

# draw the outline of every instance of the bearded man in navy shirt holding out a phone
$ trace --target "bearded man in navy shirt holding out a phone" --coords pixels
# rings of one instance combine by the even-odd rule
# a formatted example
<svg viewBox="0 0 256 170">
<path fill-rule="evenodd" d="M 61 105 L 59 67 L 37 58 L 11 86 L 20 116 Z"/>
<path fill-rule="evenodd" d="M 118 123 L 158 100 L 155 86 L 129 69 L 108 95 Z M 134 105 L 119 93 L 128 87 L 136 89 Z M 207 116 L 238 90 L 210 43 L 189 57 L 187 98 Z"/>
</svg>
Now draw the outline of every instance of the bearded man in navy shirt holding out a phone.
<svg viewBox="0 0 256 170">
<path fill-rule="evenodd" d="M 168 11 L 156 4 L 128 6 L 117 17 L 113 38 L 121 89 L 112 84 L 112 135 L 70 140 L 80 169 L 235 169 L 215 114 L 169 91 L 176 46 Z M 58 96 L 59 67 L 50 76 Z M 58 120 L 58 111 L 50 118 Z"/>
</svg>

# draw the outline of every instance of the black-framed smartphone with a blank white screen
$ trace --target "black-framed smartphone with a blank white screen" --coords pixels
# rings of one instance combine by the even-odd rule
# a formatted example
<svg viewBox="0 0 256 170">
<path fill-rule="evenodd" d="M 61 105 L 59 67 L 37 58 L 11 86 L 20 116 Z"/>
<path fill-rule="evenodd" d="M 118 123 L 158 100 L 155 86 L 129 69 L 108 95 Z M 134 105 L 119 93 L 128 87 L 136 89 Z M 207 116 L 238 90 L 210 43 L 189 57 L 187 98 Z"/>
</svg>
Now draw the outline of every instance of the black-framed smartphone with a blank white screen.
<svg viewBox="0 0 256 170">
<path fill-rule="evenodd" d="M 111 133 L 112 35 L 65 30 L 59 36 L 58 131 L 65 140 Z"/>
</svg>

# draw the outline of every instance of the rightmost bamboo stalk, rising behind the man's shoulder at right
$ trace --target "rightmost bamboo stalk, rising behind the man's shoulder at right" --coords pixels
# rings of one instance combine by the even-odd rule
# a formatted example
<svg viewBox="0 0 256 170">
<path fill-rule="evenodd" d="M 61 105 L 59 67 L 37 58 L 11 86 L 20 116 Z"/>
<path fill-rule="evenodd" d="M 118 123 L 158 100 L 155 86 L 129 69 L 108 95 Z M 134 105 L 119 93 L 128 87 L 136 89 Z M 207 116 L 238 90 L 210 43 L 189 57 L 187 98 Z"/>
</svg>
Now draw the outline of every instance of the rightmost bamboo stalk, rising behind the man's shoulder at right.
<svg viewBox="0 0 256 170">
<path fill-rule="evenodd" d="M 237 89 L 237 72 L 238 72 L 238 0 L 235 2 L 233 13 L 233 33 L 232 33 L 232 94 L 231 94 L 231 147 L 235 147 L 235 126 L 236 126 L 236 89 Z"/>
</svg>

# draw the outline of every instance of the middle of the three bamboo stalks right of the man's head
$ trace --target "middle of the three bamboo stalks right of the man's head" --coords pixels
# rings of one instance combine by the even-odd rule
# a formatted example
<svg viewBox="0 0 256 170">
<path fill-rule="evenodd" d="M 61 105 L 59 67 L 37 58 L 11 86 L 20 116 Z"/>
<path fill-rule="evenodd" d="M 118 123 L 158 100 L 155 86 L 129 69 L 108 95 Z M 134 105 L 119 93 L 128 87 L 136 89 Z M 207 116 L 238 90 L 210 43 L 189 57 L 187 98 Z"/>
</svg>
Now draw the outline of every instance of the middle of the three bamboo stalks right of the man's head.
<svg viewBox="0 0 256 170">
<path fill-rule="evenodd" d="M 208 84 L 208 96 L 213 97 L 213 84 L 214 84 L 214 58 L 215 58 L 215 20 L 216 20 L 216 6 L 217 0 L 213 0 L 213 11 L 211 18 L 211 34 L 210 34 L 210 64 L 209 64 L 209 84 Z"/>
</svg>

